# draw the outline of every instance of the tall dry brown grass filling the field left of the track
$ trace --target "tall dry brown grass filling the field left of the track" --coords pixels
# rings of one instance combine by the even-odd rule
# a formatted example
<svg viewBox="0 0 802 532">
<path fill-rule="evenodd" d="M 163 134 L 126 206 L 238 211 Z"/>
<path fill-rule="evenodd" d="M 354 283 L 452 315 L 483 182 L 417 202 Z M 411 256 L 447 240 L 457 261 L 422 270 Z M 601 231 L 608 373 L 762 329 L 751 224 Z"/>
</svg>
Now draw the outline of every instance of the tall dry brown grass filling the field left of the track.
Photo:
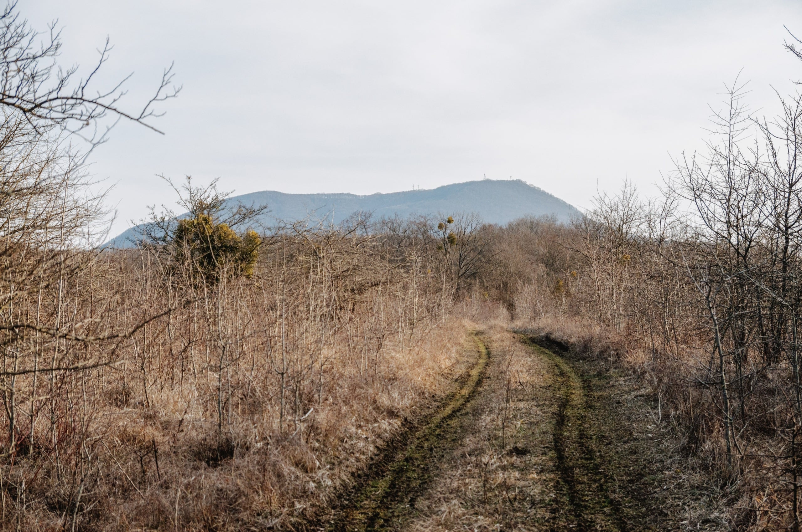
<svg viewBox="0 0 802 532">
<path fill-rule="evenodd" d="M 51 308 L 99 329 L 172 311 L 110 364 L 6 379 L 0 530 L 303 526 L 463 369 L 471 325 L 439 310 L 439 279 L 371 245 L 292 240 L 252 279 L 192 288 L 188 303 L 147 254 L 65 279 Z M 111 344 L 30 340 L 18 369 Z"/>
</svg>

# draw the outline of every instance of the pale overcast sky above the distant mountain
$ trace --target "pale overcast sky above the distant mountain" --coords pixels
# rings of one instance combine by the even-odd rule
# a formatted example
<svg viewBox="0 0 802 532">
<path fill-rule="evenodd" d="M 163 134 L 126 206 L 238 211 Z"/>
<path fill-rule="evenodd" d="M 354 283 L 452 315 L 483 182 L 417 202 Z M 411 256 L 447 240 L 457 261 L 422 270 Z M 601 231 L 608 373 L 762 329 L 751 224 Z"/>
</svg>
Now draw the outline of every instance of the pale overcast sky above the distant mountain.
<svg viewBox="0 0 802 532">
<path fill-rule="evenodd" d="M 24 0 L 59 18 L 63 60 L 90 66 L 128 104 L 175 61 L 180 97 L 158 135 L 121 123 L 93 154 L 115 187 L 114 232 L 172 195 L 157 174 L 221 178 L 242 194 L 433 188 L 524 179 L 585 208 L 628 177 L 646 194 L 670 155 L 698 148 L 725 82 L 751 80 L 776 109 L 802 62 L 802 2 L 700 0 Z"/>
</svg>

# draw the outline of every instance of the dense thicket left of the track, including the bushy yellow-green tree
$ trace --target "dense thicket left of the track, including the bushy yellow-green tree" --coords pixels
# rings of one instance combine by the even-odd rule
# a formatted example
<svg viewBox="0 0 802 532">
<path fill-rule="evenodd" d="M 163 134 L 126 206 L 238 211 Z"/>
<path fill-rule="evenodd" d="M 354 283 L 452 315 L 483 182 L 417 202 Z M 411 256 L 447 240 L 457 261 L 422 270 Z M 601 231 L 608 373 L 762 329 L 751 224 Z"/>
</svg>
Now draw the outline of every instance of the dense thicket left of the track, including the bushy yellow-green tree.
<svg viewBox="0 0 802 532">
<path fill-rule="evenodd" d="M 191 216 L 136 249 L 6 253 L 50 266 L 3 292 L 4 526 L 286 525 L 460 368 L 476 217 L 256 236 L 258 210 L 179 191 Z"/>
</svg>

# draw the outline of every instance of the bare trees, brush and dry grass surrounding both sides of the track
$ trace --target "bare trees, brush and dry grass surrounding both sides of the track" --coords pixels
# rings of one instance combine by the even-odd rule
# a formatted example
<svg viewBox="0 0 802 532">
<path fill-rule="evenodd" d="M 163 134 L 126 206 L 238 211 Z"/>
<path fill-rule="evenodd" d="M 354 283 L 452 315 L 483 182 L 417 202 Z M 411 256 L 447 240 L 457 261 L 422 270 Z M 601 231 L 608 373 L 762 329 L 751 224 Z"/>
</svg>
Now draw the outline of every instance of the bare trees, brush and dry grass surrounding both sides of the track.
<svg viewBox="0 0 802 532">
<path fill-rule="evenodd" d="M 571 224 L 265 228 L 187 179 L 114 251 L 87 153 L 180 87 L 125 107 L 127 79 L 94 85 L 109 46 L 83 77 L 61 46 L 0 14 L 0 530 L 300 526 L 445 389 L 465 318 L 630 368 L 733 526 L 800 529 L 800 93 L 758 118 L 733 84 L 662 197 L 625 183 Z"/>
</svg>

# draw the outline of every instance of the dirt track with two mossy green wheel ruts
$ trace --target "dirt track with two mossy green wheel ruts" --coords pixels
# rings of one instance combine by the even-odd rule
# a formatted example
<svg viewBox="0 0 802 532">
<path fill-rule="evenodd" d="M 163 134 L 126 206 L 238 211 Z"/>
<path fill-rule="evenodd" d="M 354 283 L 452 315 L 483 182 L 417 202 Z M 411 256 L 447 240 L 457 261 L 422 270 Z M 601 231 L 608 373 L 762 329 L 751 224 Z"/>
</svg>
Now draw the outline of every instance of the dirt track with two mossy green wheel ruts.
<svg viewBox="0 0 802 532">
<path fill-rule="evenodd" d="M 455 392 L 385 449 L 319 530 L 726 530 L 700 517 L 715 494 L 677 468 L 630 381 L 544 339 L 474 341 Z"/>
</svg>

